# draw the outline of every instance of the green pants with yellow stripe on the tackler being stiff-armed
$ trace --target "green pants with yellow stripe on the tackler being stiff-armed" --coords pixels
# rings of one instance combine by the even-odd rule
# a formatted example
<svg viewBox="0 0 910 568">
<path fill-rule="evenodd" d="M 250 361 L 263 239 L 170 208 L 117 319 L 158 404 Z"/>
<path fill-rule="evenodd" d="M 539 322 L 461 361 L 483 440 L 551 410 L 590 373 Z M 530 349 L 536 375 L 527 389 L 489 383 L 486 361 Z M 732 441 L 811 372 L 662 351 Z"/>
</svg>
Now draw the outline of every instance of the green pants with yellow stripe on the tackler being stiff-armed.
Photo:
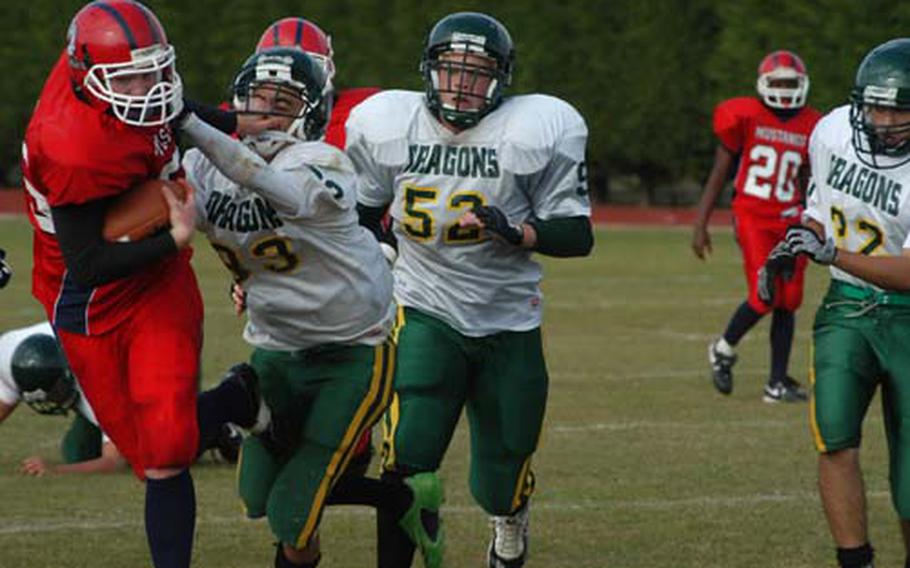
<svg viewBox="0 0 910 568">
<path fill-rule="evenodd" d="M 248 437 L 238 465 L 240 497 L 249 517 L 267 515 L 281 542 L 303 548 L 360 436 L 388 407 L 394 344 L 256 349 L 251 364 L 290 450 L 276 456 Z"/>
</svg>

